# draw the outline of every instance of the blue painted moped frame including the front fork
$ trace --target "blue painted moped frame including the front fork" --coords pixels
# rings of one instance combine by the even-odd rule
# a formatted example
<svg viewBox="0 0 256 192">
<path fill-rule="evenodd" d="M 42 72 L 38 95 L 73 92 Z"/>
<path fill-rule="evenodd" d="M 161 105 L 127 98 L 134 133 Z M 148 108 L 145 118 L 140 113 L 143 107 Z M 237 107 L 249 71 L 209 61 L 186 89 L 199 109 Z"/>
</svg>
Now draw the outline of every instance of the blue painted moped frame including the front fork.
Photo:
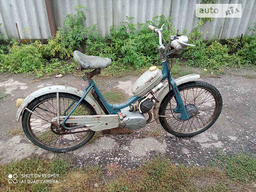
<svg viewBox="0 0 256 192">
<path fill-rule="evenodd" d="M 169 71 L 168 71 L 168 63 L 165 61 L 165 62 L 162 63 L 162 66 L 163 66 L 163 71 L 162 71 L 163 79 L 162 79 L 162 81 L 164 81 L 168 77 L 168 73 L 169 73 Z M 173 90 L 173 92 L 175 94 L 174 98 L 175 98 L 176 103 L 177 103 L 177 107 L 174 109 L 174 112 L 175 113 L 180 113 L 179 119 L 185 121 L 185 120 L 187 120 L 189 118 L 188 114 L 187 114 L 187 111 L 186 111 L 186 108 L 185 108 L 185 106 L 183 104 L 183 101 L 182 101 L 181 96 L 180 96 L 180 92 L 178 90 L 177 85 L 175 84 L 174 79 L 172 78 L 171 73 L 170 73 L 169 77 L 170 77 L 169 83 L 171 84 L 172 90 Z M 102 103 L 106 107 L 106 109 L 108 110 L 109 114 L 112 114 L 112 115 L 113 114 L 117 114 L 118 112 L 120 112 L 120 109 L 128 107 L 129 105 L 131 105 L 135 101 L 141 100 L 140 97 L 132 96 L 130 99 L 128 99 L 124 103 L 117 104 L 117 105 L 112 105 L 112 104 L 108 103 L 108 101 L 103 97 L 103 95 L 101 94 L 101 92 L 100 92 L 99 88 L 97 87 L 97 85 L 95 84 L 95 82 L 92 79 L 90 79 L 89 80 L 89 84 L 83 90 L 84 91 L 83 97 L 76 103 L 76 106 L 68 113 L 68 115 L 63 120 L 62 125 L 63 125 L 63 127 L 65 129 L 76 129 L 76 128 L 80 127 L 80 126 L 76 126 L 76 127 L 69 128 L 69 127 L 65 126 L 65 122 L 69 118 L 69 116 L 74 112 L 74 110 L 77 108 L 77 106 L 79 106 L 79 104 L 84 100 L 85 96 L 90 92 L 90 90 L 92 88 L 95 90 L 95 92 L 99 96 L 100 100 L 102 101 Z M 68 111 L 68 109 L 71 108 L 74 104 L 75 104 L 75 101 L 72 102 L 68 106 L 68 108 L 63 113 L 64 116 L 66 115 L 66 112 Z"/>
</svg>

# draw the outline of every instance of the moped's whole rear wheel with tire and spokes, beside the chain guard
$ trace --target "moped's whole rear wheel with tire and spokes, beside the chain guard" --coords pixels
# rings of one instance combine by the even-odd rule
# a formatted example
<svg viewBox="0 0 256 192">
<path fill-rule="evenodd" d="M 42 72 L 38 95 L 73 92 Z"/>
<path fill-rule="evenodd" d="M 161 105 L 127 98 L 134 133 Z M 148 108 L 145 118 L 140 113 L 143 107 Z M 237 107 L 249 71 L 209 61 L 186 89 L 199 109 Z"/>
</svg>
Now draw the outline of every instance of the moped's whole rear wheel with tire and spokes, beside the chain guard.
<svg viewBox="0 0 256 192">
<path fill-rule="evenodd" d="M 76 95 L 59 93 L 61 115 L 67 115 L 80 99 Z M 68 108 L 71 103 L 73 103 L 72 107 Z M 40 148 L 54 152 L 70 151 L 83 146 L 94 135 L 94 131 L 86 128 L 66 130 L 60 126 L 57 130 L 52 126 L 51 120 L 57 116 L 57 93 L 38 97 L 29 103 L 27 108 L 35 114 L 25 110 L 22 115 L 22 127 L 28 139 Z M 75 115 L 96 115 L 96 112 L 83 100 L 71 114 L 71 116 Z"/>
</svg>

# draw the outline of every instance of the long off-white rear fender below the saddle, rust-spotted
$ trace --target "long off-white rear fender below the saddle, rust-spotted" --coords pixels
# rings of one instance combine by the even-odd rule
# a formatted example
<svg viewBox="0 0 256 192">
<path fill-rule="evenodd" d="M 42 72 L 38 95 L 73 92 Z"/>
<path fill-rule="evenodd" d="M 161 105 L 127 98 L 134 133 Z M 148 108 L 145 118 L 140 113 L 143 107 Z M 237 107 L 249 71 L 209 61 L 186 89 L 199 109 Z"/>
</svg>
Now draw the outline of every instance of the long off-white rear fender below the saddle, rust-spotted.
<svg viewBox="0 0 256 192">
<path fill-rule="evenodd" d="M 44 87 L 42 89 L 39 89 L 39 90 L 31 93 L 30 95 L 28 95 L 23 100 L 22 104 L 18 108 L 17 115 L 16 115 L 16 121 L 20 120 L 20 116 L 22 114 L 23 109 L 25 107 L 27 107 L 27 105 L 31 101 L 33 101 L 34 99 L 36 99 L 37 97 L 40 97 L 42 95 L 45 95 L 45 94 L 48 94 L 48 93 L 54 93 L 54 92 L 70 93 L 70 94 L 76 95 L 78 97 L 82 97 L 84 95 L 84 92 L 82 90 L 76 89 L 74 87 L 66 87 L 66 86 L 62 86 L 62 85 L 54 85 L 54 86 Z M 84 98 L 84 100 L 86 100 L 94 108 L 94 110 L 96 111 L 97 115 L 101 114 L 101 108 L 96 103 L 96 101 L 93 100 L 89 95 L 87 95 Z"/>
</svg>

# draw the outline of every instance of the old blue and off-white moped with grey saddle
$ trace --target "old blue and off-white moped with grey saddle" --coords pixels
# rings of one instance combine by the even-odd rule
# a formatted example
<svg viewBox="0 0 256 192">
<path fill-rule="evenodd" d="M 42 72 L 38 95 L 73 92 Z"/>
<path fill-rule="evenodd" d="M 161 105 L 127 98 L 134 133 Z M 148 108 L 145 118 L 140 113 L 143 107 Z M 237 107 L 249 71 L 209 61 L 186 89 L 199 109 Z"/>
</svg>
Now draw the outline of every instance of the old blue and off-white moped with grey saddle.
<svg viewBox="0 0 256 192">
<path fill-rule="evenodd" d="M 17 100 L 17 116 L 22 127 L 40 148 L 64 152 L 87 143 L 95 131 L 124 128 L 141 129 L 156 121 L 169 133 L 190 137 L 204 132 L 218 119 L 222 109 L 220 92 L 211 84 L 198 81 L 197 74 L 173 79 L 168 58 L 185 50 L 188 37 L 169 36 L 162 44 L 163 26 L 148 28 L 158 34 L 159 58 L 163 69 L 150 67 L 132 86 L 133 96 L 121 104 L 110 104 L 103 97 L 92 77 L 109 66 L 109 58 L 88 56 L 74 51 L 80 69 L 93 69 L 83 76 L 88 84 L 84 90 L 67 86 L 48 86 Z M 167 79 L 168 84 L 163 82 Z M 156 96 L 156 93 L 161 90 Z M 88 93 L 91 91 L 91 96 Z M 103 113 L 104 112 L 104 113 Z M 152 112 L 154 120 L 152 119 Z M 148 114 L 148 115 L 146 115 Z"/>
</svg>

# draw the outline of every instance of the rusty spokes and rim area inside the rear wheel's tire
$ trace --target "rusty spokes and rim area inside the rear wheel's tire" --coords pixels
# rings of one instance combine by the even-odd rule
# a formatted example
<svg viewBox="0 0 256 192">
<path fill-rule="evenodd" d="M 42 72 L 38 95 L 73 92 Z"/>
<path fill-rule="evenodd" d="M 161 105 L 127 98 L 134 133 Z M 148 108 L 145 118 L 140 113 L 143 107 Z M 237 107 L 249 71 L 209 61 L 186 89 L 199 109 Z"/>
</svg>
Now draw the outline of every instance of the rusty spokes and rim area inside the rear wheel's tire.
<svg viewBox="0 0 256 192">
<path fill-rule="evenodd" d="M 75 102 L 76 104 L 78 100 L 61 97 L 60 93 L 59 104 L 57 101 L 55 95 L 55 98 L 38 103 L 29 114 L 28 128 L 30 129 L 30 132 L 32 132 L 32 137 L 40 143 L 44 143 L 45 146 L 52 148 L 68 148 L 75 146 L 85 140 L 91 131 L 84 128 L 65 130 L 61 127 L 52 127 L 52 118 L 55 118 L 58 115 L 58 112 L 59 114 L 62 114 L 62 112 L 68 109 L 67 107 L 70 103 Z M 58 106 L 57 108 L 56 105 Z M 75 105 L 68 109 L 68 111 L 71 111 L 74 107 Z M 82 104 L 75 109 L 75 112 L 75 115 L 90 115 L 90 112 Z M 77 126 L 77 124 L 71 126 Z"/>
</svg>

